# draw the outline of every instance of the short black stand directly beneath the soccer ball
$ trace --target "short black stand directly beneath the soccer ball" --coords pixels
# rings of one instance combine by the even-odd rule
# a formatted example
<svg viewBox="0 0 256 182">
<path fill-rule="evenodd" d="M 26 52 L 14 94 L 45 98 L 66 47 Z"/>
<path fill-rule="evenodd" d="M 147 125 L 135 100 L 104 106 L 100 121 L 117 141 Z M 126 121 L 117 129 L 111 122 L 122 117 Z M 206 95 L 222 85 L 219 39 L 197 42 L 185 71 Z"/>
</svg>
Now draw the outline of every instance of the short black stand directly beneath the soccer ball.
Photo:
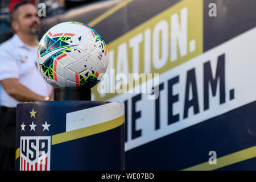
<svg viewBox="0 0 256 182">
<path fill-rule="evenodd" d="M 64 87 L 55 88 L 54 101 L 91 101 L 92 92 L 86 87 Z"/>
</svg>

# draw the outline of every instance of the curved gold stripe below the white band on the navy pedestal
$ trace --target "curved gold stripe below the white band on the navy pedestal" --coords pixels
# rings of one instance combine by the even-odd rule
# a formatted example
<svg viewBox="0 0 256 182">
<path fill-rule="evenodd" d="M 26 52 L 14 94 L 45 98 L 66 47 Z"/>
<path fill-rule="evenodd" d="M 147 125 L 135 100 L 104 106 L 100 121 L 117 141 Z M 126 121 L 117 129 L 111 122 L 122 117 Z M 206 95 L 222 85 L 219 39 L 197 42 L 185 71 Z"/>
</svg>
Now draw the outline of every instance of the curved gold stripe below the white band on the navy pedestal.
<svg viewBox="0 0 256 182">
<path fill-rule="evenodd" d="M 113 120 L 100 123 L 98 125 L 93 125 L 93 126 L 85 127 L 78 130 L 73 130 L 65 133 L 52 135 L 52 145 L 102 133 L 104 131 L 114 129 L 115 127 L 122 125 L 123 122 L 124 122 L 124 115 L 122 115 L 119 118 L 115 118 Z"/>
</svg>

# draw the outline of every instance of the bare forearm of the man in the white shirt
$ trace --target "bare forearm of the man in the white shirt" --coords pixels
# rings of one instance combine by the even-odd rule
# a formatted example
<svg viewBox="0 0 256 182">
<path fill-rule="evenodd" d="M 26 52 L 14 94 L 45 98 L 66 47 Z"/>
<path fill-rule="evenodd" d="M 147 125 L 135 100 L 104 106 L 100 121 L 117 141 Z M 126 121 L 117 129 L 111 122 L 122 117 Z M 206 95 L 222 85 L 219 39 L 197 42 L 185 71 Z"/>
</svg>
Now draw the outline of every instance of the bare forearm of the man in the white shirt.
<svg viewBox="0 0 256 182">
<path fill-rule="evenodd" d="M 26 86 L 19 83 L 16 78 L 7 78 L 0 81 L 6 93 L 21 102 L 44 101 L 43 96 L 32 92 Z"/>
</svg>

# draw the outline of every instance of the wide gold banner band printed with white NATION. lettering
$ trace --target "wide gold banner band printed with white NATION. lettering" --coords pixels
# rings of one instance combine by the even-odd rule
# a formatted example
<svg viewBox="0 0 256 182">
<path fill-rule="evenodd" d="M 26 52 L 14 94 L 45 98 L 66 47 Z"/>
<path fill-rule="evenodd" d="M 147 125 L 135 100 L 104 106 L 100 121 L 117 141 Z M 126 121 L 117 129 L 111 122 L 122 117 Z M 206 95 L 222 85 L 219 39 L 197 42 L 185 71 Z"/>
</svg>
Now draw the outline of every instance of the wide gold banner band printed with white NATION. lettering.
<svg viewBox="0 0 256 182">
<path fill-rule="evenodd" d="M 132 30 L 117 37 L 117 39 L 108 43 L 109 64 L 111 63 L 111 65 L 109 65 L 109 69 L 110 67 L 114 68 L 115 74 L 118 72 L 126 72 L 126 76 L 128 76 L 127 73 L 158 73 L 161 75 L 162 73 L 166 73 L 167 71 L 186 63 L 194 57 L 201 55 L 203 53 L 203 10 L 203 0 L 180 1 L 175 3 L 175 5 L 168 7 L 166 10 L 159 12 L 159 14 L 153 16 L 145 22 L 142 22 Z M 187 51 L 185 51 L 186 53 L 184 55 L 181 54 L 181 47 L 179 46 L 180 43 L 178 38 L 175 37 L 178 35 L 176 34 L 176 31 L 179 30 L 180 32 L 182 22 L 186 24 L 184 30 L 187 31 L 187 34 L 184 34 L 183 36 L 184 39 L 182 38 L 184 46 L 187 46 Z M 164 34 L 163 31 L 167 32 L 164 35 L 166 36 L 164 39 L 162 38 L 162 35 Z M 172 34 L 171 31 L 176 33 Z M 172 37 L 171 35 L 175 36 Z M 138 49 L 136 48 L 136 50 L 138 53 L 135 53 L 135 48 L 131 46 L 130 42 L 134 42 L 135 39 L 138 39 L 137 36 L 140 37 L 141 42 L 137 42 L 138 44 L 136 45 L 138 45 Z M 166 45 L 166 47 L 162 47 L 162 44 Z M 172 44 L 175 44 L 176 46 Z M 157 49 L 158 51 L 153 51 L 153 48 L 154 50 Z M 193 48 L 193 51 L 192 49 L 189 51 L 190 48 Z M 171 55 L 174 54 L 172 51 L 176 52 L 175 58 L 171 58 Z M 165 58 L 161 60 L 161 56 L 163 56 L 162 53 L 164 52 Z M 135 59 L 134 56 L 137 58 Z M 137 63 L 138 60 L 139 63 Z M 154 60 L 161 60 L 163 61 L 164 65 L 158 68 L 155 66 L 156 63 Z M 119 65 L 122 66 L 119 67 Z M 115 76 L 110 77 L 110 70 L 105 74 L 109 80 L 112 80 L 113 78 L 113 82 L 117 81 L 116 79 L 118 79 Z M 152 77 L 154 77 L 154 74 Z M 133 89 L 136 86 L 143 84 L 144 81 L 148 81 L 148 79 L 139 79 L 137 81 L 134 81 L 134 79 L 128 79 L 125 85 L 121 85 L 122 88 Z M 121 92 L 121 87 L 118 89 Z M 108 101 L 119 94 L 118 92 L 115 92 L 118 89 L 114 89 L 114 92 L 111 94 L 105 94 L 102 96 L 95 86 L 92 89 L 92 92 L 95 95 L 96 101 Z"/>
</svg>

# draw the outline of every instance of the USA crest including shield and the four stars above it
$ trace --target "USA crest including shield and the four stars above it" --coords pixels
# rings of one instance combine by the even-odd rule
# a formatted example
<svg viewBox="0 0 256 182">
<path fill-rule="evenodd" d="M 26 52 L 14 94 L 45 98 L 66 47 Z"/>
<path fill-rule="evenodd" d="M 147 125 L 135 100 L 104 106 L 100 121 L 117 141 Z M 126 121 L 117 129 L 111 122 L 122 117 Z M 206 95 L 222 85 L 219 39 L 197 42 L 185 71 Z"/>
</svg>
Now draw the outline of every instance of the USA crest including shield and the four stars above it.
<svg viewBox="0 0 256 182">
<path fill-rule="evenodd" d="M 20 138 L 19 170 L 49 171 L 51 163 L 51 134 L 49 121 L 36 117 L 38 110 L 32 107 L 24 113 L 22 125 L 18 127 Z M 39 117 L 40 118 L 40 117 Z"/>
</svg>

